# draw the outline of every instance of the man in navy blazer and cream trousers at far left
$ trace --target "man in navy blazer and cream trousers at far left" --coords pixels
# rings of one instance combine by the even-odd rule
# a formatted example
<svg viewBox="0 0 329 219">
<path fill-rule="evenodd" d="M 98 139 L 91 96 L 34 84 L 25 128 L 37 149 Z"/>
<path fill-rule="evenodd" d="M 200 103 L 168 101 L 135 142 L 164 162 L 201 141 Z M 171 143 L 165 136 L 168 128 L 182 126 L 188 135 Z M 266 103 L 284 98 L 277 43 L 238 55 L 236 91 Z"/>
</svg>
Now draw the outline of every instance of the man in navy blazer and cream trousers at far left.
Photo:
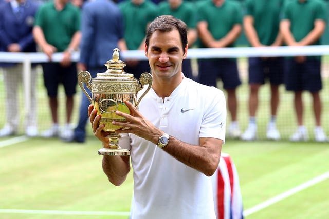
<svg viewBox="0 0 329 219">
<path fill-rule="evenodd" d="M 0 51 L 36 52 L 32 28 L 38 6 L 30 0 L 12 0 L 0 7 Z M 22 83 L 21 63 L 0 63 L 4 72 L 6 87 L 6 124 L 0 130 L 0 137 L 16 134 L 20 123 L 18 101 L 19 84 Z M 33 137 L 38 134 L 36 119 L 36 66 L 31 67 L 31 104 L 25 118 L 25 133 Z"/>
</svg>

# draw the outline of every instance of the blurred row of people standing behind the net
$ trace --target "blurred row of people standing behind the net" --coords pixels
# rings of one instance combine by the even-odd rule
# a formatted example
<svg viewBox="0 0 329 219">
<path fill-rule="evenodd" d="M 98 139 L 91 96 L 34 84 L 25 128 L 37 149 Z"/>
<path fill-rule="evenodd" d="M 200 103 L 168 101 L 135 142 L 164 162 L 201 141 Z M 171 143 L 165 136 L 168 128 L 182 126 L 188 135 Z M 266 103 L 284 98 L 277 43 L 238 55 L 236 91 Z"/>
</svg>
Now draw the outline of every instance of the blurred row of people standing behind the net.
<svg viewBox="0 0 329 219">
<path fill-rule="evenodd" d="M 33 64 L 30 75 L 30 109 L 24 116 L 27 136 L 59 137 L 66 142 L 85 142 L 88 122 L 88 98 L 82 94 L 77 121 L 75 113 L 77 72 L 87 70 L 92 77 L 104 72 L 104 63 L 114 48 L 144 50 L 148 24 L 162 14 L 173 15 L 188 28 L 189 48 L 231 48 L 236 46 L 278 47 L 329 44 L 327 22 L 328 1 L 325 0 L 0 0 L 0 51 L 43 52 L 49 62 Z M 78 62 L 72 53 L 78 51 Z M 52 62 L 54 53 L 62 52 L 60 62 Z M 308 141 L 305 109 L 311 108 L 314 117 L 313 140 L 326 142 L 322 125 L 323 61 L 320 56 L 249 57 L 247 58 L 247 125 L 241 129 L 237 89 L 242 85 L 236 58 L 185 59 L 182 72 L 205 85 L 225 90 L 229 112 L 227 136 L 253 141 L 258 138 L 259 92 L 268 84 L 269 113 L 266 138 L 280 140 L 282 131 L 277 126 L 280 87 L 293 94 L 292 108 L 296 116 L 296 130 L 290 141 Z M 150 72 L 146 60 L 124 59 L 124 70 L 139 78 Z M 1 59 L 0 59 L 1 62 Z M 36 78 L 42 69 L 43 84 L 48 97 L 51 125 L 40 132 L 37 122 Z M 17 134 L 21 122 L 17 99 L 24 75 L 22 63 L 0 63 L 6 116 L 0 136 Z M 281 86 L 282 85 L 282 86 Z M 65 123 L 59 124 L 59 86 L 65 90 Z M 89 92 L 88 89 L 86 89 Z M 305 102 L 303 93 L 311 101 Z M 305 109 L 304 109 L 305 108 Z M 324 111 L 324 112 L 323 112 Z M 72 127 L 71 124 L 75 124 Z"/>
</svg>

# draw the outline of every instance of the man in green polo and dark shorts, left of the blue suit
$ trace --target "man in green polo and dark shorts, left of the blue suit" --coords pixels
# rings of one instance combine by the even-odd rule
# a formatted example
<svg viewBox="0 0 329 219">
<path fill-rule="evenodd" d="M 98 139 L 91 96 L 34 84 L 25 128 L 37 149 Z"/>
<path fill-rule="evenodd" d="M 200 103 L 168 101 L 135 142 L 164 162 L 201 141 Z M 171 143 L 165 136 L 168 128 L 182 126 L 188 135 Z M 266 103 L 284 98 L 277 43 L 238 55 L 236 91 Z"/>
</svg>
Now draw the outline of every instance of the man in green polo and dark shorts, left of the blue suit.
<svg viewBox="0 0 329 219">
<path fill-rule="evenodd" d="M 78 83 L 76 63 L 71 62 L 71 53 L 80 43 L 80 11 L 69 0 L 54 0 L 44 3 L 36 14 L 33 35 L 36 43 L 48 56 L 43 63 L 44 83 L 47 88 L 52 117 L 52 127 L 43 133 L 44 137 L 66 138 L 72 135 L 70 121 L 74 106 L 74 94 Z M 54 52 L 63 52 L 60 63 L 51 62 Z M 58 99 L 59 84 L 63 84 L 66 94 L 66 124 L 59 133 Z"/>
</svg>

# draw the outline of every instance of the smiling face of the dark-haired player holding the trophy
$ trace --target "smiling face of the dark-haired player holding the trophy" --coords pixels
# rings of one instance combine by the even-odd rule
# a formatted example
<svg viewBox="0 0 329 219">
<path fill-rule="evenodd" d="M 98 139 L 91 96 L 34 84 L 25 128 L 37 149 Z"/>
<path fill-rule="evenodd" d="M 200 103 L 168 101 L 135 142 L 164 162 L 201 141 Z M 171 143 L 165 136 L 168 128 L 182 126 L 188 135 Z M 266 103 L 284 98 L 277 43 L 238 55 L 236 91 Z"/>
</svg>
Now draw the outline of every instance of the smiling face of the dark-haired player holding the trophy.
<svg viewBox="0 0 329 219">
<path fill-rule="evenodd" d="M 145 46 L 145 55 L 149 58 L 150 67 L 154 77 L 169 79 L 181 73 L 182 60 L 186 58 L 187 46 L 182 50 L 178 30 L 170 32 L 155 31 Z"/>
</svg>

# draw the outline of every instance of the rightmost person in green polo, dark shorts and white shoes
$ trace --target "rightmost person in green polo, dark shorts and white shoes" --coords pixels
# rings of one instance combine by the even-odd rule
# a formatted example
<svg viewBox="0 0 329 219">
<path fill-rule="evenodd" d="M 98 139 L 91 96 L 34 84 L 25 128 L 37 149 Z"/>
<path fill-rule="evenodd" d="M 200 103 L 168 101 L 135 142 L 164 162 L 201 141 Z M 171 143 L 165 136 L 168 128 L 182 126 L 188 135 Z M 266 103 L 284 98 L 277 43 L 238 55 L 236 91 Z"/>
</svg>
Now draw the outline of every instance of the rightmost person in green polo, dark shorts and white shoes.
<svg viewBox="0 0 329 219">
<path fill-rule="evenodd" d="M 292 0 L 284 8 L 284 17 L 280 29 L 288 46 L 320 45 L 320 38 L 325 30 L 327 20 L 326 6 L 319 0 Z M 306 16 L 310 15 L 312 16 Z M 326 141 L 321 128 L 322 89 L 320 57 L 297 56 L 287 58 L 285 62 L 284 80 L 286 90 L 294 91 L 294 105 L 298 128 L 290 137 L 290 141 L 307 141 L 308 132 L 303 124 L 302 92 L 309 91 L 313 99 L 313 113 L 316 127 L 314 138 L 317 142 Z"/>
</svg>

